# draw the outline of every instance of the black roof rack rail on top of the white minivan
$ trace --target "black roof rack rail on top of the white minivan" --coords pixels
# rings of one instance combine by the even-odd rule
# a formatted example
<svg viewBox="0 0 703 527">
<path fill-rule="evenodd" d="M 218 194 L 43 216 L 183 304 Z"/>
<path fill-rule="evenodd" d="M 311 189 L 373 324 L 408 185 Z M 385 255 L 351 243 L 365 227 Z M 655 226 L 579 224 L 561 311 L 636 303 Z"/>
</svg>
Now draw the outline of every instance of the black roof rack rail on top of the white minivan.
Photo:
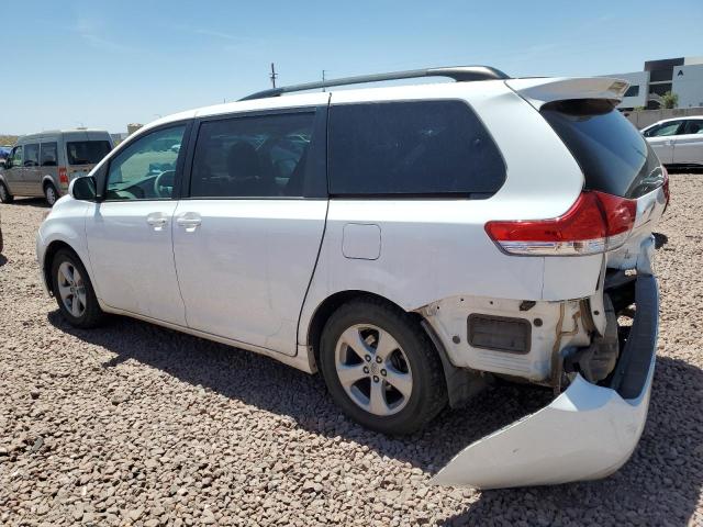
<svg viewBox="0 0 703 527">
<path fill-rule="evenodd" d="M 250 101 L 252 99 L 265 99 L 267 97 L 278 97 L 283 93 L 314 90 L 317 88 L 332 88 L 335 86 L 347 85 L 365 85 L 367 82 L 382 82 L 386 80 L 417 79 L 421 77 L 447 77 L 456 80 L 457 82 L 466 82 L 471 80 L 510 79 L 510 77 L 503 71 L 490 66 L 453 66 L 443 68 L 410 69 L 408 71 L 360 75 L 358 77 L 345 77 L 342 79 L 330 79 L 319 82 L 305 82 L 303 85 L 282 86 L 280 88 L 271 88 L 269 90 L 257 91 L 256 93 L 252 93 L 250 96 L 247 96 L 239 100 Z"/>
</svg>

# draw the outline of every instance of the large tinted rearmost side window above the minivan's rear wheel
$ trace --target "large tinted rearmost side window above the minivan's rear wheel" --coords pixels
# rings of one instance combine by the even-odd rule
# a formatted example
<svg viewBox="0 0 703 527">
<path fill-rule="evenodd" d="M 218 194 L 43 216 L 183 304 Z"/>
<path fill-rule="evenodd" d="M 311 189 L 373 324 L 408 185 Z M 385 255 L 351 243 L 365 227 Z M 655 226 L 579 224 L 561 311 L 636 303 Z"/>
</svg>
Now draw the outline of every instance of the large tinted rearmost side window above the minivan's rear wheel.
<svg viewBox="0 0 703 527">
<path fill-rule="evenodd" d="M 462 194 L 486 198 L 505 180 L 503 159 L 460 101 L 332 106 L 332 194 Z"/>
</svg>

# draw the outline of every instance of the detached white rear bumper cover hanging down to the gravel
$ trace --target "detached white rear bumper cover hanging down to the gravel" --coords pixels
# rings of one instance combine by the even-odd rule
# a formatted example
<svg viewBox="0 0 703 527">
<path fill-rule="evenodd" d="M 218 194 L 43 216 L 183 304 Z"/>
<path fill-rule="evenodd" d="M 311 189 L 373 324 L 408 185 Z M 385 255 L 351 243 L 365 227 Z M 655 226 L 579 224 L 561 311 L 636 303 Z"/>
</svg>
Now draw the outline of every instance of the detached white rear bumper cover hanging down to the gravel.
<svg viewBox="0 0 703 527">
<path fill-rule="evenodd" d="M 654 276 L 635 283 L 637 312 L 610 385 L 577 375 L 551 404 L 459 452 L 432 480 L 499 489 L 610 475 L 632 456 L 647 419 L 659 296 Z"/>
</svg>

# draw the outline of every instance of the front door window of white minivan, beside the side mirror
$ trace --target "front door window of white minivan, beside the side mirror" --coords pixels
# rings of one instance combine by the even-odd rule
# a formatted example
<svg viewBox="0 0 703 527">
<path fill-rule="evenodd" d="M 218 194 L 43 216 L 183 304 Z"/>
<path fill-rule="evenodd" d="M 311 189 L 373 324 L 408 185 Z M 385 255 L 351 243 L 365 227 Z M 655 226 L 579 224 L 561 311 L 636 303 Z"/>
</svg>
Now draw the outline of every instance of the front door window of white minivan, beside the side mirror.
<svg viewBox="0 0 703 527">
<path fill-rule="evenodd" d="M 105 199 L 170 199 L 185 132 L 185 124 L 163 128 L 126 146 L 110 161 Z"/>
</svg>

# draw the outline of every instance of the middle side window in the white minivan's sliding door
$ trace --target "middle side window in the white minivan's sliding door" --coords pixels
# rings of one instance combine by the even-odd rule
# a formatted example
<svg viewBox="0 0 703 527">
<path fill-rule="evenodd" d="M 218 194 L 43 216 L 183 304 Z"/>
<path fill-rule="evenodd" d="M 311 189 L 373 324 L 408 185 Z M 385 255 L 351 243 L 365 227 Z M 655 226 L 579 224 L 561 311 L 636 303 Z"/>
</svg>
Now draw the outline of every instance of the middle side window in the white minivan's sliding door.
<svg viewBox="0 0 703 527">
<path fill-rule="evenodd" d="M 303 197 L 314 119 L 299 112 L 202 123 L 191 198 Z"/>
</svg>

